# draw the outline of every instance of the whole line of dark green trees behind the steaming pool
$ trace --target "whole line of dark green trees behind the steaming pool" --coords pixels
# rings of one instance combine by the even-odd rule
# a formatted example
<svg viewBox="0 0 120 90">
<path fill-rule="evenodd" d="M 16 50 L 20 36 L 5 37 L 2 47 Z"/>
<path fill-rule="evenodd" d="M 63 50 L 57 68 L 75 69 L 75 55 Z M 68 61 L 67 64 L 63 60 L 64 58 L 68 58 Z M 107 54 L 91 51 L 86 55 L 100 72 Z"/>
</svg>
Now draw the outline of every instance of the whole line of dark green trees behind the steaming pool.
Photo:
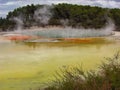
<svg viewBox="0 0 120 90">
<path fill-rule="evenodd" d="M 45 6 L 48 11 L 46 11 L 46 9 L 42 10 Z M 36 11 L 38 12 L 37 16 L 35 16 Z M 47 15 L 47 12 L 51 14 Z M 45 14 L 45 17 L 41 14 Z M 65 3 L 52 6 L 27 5 L 9 12 L 6 18 L 0 18 L 0 30 L 15 29 L 19 22 L 14 20 L 14 18 L 18 18 L 22 21 L 23 28 L 56 25 L 95 29 L 107 25 L 108 19 L 111 18 L 116 25 L 116 30 L 120 30 L 120 9 L 108 9 L 97 6 L 91 7 Z M 42 23 L 41 20 L 43 19 L 47 20 L 47 23 Z M 45 20 L 43 21 L 45 22 Z"/>
</svg>

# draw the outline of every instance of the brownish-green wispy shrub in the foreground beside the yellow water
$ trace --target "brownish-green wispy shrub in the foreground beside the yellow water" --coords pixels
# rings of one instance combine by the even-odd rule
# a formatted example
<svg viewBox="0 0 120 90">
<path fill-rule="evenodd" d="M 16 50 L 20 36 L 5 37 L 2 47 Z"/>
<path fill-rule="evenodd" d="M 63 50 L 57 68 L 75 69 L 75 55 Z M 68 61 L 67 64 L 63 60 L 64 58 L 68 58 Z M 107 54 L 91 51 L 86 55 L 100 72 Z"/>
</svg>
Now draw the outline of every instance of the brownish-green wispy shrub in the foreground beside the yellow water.
<svg viewBox="0 0 120 90">
<path fill-rule="evenodd" d="M 120 90 L 120 55 L 106 59 L 108 62 L 103 63 L 98 72 L 64 69 L 62 74 L 56 74 L 53 85 L 44 90 Z"/>
</svg>

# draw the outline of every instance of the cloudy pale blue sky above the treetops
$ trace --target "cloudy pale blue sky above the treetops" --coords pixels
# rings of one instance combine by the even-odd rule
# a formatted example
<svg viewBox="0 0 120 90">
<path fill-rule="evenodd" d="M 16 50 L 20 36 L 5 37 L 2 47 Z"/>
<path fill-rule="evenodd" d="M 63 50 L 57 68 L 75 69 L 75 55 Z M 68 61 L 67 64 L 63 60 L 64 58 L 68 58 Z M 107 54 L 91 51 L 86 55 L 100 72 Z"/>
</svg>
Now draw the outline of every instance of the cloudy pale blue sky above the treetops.
<svg viewBox="0 0 120 90">
<path fill-rule="evenodd" d="M 0 17 L 6 17 L 9 11 L 25 5 L 58 3 L 120 8 L 120 0 L 0 0 Z"/>
</svg>

